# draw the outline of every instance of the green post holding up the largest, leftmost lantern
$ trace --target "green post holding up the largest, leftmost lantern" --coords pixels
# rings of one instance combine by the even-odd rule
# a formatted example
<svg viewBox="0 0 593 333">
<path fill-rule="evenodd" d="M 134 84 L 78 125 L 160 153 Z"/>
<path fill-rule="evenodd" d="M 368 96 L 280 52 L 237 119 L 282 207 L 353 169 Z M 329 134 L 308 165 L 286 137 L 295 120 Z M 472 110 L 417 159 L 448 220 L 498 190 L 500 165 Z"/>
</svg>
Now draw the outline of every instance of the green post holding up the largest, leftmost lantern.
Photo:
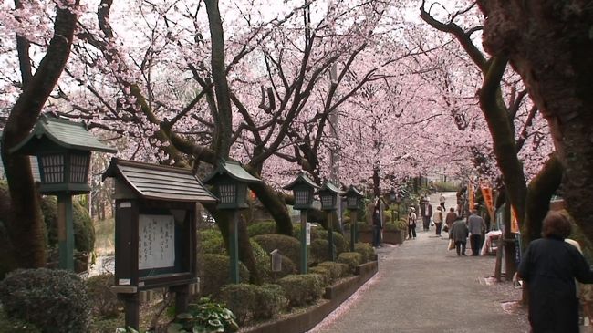
<svg viewBox="0 0 593 333">
<path fill-rule="evenodd" d="M 72 226 L 72 196 L 57 195 L 57 240 L 59 267 L 74 271 L 74 227 Z"/>
</svg>

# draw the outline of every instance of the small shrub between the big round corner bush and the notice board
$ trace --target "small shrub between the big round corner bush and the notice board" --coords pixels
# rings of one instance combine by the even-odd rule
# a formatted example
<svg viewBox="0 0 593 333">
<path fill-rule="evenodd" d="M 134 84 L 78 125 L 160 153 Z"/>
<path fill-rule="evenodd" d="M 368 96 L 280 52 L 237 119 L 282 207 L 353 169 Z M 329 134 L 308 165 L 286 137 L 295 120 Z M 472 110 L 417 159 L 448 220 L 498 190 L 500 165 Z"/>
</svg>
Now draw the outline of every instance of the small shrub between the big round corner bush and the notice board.
<svg viewBox="0 0 593 333">
<path fill-rule="evenodd" d="M 115 278 L 112 274 L 91 276 L 85 283 L 93 317 L 109 318 L 120 314 L 121 302 L 110 289 L 111 286 L 115 286 Z"/>
</svg>

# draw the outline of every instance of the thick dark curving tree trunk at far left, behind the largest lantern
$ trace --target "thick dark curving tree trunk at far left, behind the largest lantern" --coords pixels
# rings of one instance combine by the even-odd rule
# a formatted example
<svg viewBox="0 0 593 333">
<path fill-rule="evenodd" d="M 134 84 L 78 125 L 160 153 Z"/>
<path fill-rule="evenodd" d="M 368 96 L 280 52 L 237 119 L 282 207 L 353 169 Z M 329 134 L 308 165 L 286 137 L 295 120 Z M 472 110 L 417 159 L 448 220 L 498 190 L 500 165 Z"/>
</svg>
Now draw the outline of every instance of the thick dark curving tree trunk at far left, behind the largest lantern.
<svg viewBox="0 0 593 333">
<path fill-rule="evenodd" d="M 78 5 L 78 1 L 74 5 Z M 27 156 L 10 154 L 35 125 L 49 94 L 66 66 L 77 16 L 69 7 L 57 7 L 54 36 L 35 75 L 24 82 L 23 92 L 10 111 L 2 138 L 2 159 L 10 188 L 11 210 L 8 234 L 15 263 L 19 267 L 41 267 L 46 263 L 46 242 L 31 165 Z M 26 52 L 19 48 L 19 51 Z M 19 57 L 28 58 L 26 54 Z M 23 66 L 23 63 L 21 64 Z M 28 74 L 24 75 L 24 78 Z"/>
</svg>

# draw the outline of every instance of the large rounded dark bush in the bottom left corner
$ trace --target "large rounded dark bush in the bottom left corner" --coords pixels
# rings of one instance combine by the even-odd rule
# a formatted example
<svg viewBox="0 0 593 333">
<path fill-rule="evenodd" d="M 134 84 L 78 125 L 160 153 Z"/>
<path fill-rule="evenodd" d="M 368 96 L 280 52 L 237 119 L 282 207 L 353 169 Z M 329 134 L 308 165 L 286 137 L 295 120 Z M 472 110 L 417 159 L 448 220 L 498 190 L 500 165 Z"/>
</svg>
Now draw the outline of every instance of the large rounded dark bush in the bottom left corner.
<svg viewBox="0 0 593 333">
<path fill-rule="evenodd" d="M 0 301 L 9 317 L 43 332 L 87 332 L 88 297 L 84 282 L 64 270 L 19 269 L 0 282 Z"/>
</svg>

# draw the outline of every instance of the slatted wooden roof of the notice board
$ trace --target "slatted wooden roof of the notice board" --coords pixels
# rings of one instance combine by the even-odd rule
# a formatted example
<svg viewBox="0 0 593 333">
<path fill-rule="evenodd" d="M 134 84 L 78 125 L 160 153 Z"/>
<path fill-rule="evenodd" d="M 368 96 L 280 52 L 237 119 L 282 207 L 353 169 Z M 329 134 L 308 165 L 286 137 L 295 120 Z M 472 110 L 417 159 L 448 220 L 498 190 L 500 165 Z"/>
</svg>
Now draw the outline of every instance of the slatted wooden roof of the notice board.
<svg viewBox="0 0 593 333">
<path fill-rule="evenodd" d="M 146 199 L 198 203 L 218 201 L 188 169 L 112 158 L 102 179 L 107 177 L 120 179 Z"/>
</svg>

